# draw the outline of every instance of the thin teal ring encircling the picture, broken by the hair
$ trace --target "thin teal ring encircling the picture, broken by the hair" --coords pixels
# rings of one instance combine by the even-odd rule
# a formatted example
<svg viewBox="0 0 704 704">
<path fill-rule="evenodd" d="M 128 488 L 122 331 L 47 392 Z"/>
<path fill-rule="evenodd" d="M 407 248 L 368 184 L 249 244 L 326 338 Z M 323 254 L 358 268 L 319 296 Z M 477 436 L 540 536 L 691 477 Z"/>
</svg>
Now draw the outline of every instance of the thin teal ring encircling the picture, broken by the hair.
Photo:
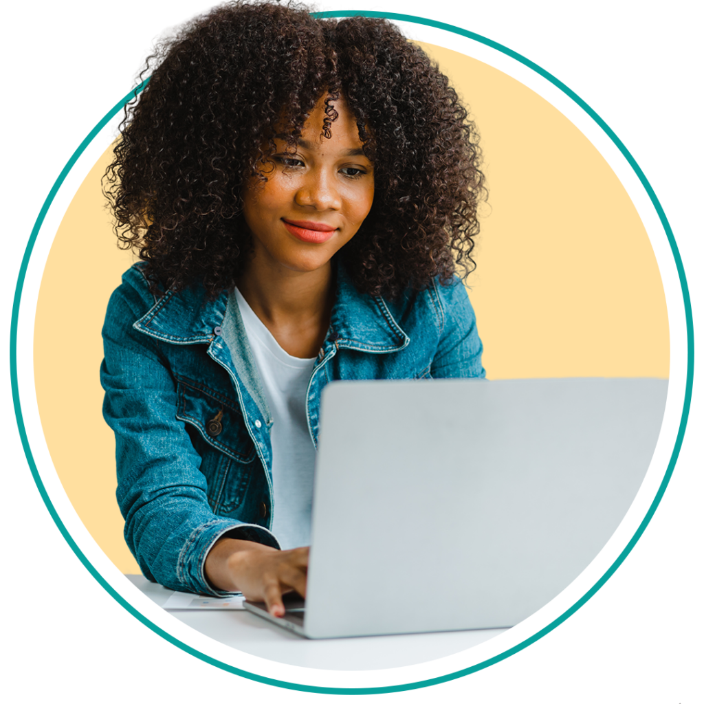
<svg viewBox="0 0 704 704">
<path fill-rule="evenodd" d="M 691 402 L 692 402 L 692 394 L 693 394 L 693 378 L 694 378 L 694 340 L 693 340 L 693 332 L 694 332 L 694 327 L 693 327 L 693 312 L 692 312 L 692 303 L 691 303 L 691 294 L 689 290 L 689 284 L 687 282 L 686 274 L 684 271 L 684 263 L 682 262 L 681 258 L 681 253 L 679 251 L 679 246 L 677 244 L 677 240 L 674 237 L 674 232 L 672 231 L 672 227 L 670 225 L 669 220 L 667 220 L 667 215 L 665 214 L 665 209 L 662 207 L 662 203 L 660 203 L 660 199 L 658 199 L 658 196 L 655 194 L 655 190 L 653 189 L 652 185 L 650 184 L 650 181 L 646 177 L 646 175 L 643 173 L 643 170 L 641 169 L 639 163 L 636 161 L 634 156 L 631 154 L 629 149 L 627 149 L 627 146 L 621 141 L 621 139 L 615 134 L 615 132 L 609 127 L 606 122 L 603 120 L 601 115 L 596 113 L 596 111 L 591 108 L 589 103 L 586 103 L 582 98 L 577 95 L 570 87 L 567 87 L 562 81 L 560 81 L 557 77 L 555 77 L 553 74 L 549 73 L 545 69 L 543 69 L 540 65 L 534 63 L 533 61 L 530 61 L 528 58 L 525 56 L 522 56 L 522 54 L 519 54 L 517 51 L 514 51 L 513 49 L 508 49 L 508 47 L 503 46 L 503 44 L 499 44 L 498 42 L 495 42 L 493 39 L 489 39 L 488 37 L 483 37 L 481 34 L 477 34 L 476 32 L 471 32 L 470 30 L 465 30 L 463 27 L 458 27 L 456 25 L 449 25 L 444 22 L 440 22 L 437 20 L 430 20 L 428 18 L 420 17 L 418 15 L 406 15 L 402 13 L 394 13 L 394 12 L 375 12 L 375 11 L 333 11 L 333 12 L 318 12 L 314 13 L 315 17 L 318 18 L 327 18 L 327 17 L 333 17 L 333 16 L 338 16 L 338 17 L 351 17 L 351 16 L 364 16 L 364 17 L 378 17 L 378 18 L 386 18 L 389 20 L 396 20 L 400 21 L 403 23 L 413 23 L 418 26 L 427 26 L 427 27 L 434 27 L 439 30 L 444 30 L 446 32 L 450 32 L 451 34 L 456 34 L 459 37 L 464 37 L 465 39 L 472 39 L 474 42 L 478 42 L 479 44 L 484 44 L 484 46 L 488 46 L 490 49 L 494 49 L 495 51 L 500 52 L 501 54 L 504 54 L 505 56 L 508 56 L 509 58 L 512 58 L 514 61 L 517 61 L 517 63 L 521 63 L 524 66 L 527 66 L 527 68 L 531 69 L 534 71 L 534 73 L 537 73 L 543 79 L 547 80 L 553 86 L 558 88 L 562 93 L 564 93 L 570 100 L 572 100 L 574 103 L 577 104 L 579 108 L 584 111 L 593 122 L 596 122 L 596 125 L 601 128 L 601 130 L 604 132 L 604 134 L 610 139 L 610 141 L 616 146 L 618 151 L 622 153 L 622 156 L 626 159 L 626 161 L 629 163 L 629 166 L 631 169 L 634 171 L 636 176 L 638 177 L 639 181 L 641 182 L 641 186 L 643 187 L 644 191 L 646 191 L 646 194 L 648 195 L 648 199 L 650 199 L 650 203 L 653 204 L 653 208 L 655 209 L 655 213 L 658 215 L 658 218 L 660 219 L 660 223 L 662 225 L 663 230 L 665 231 L 665 237 L 667 238 L 667 242 L 670 245 L 670 250 L 672 251 L 672 256 L 674 258 L 674 263 L 677 267 L 677 276 L 679 279 L 679 284 L 682 292 L 682 301 L 684 303 L 684 315 L 685 315 L 685 327 L 686 327 L 686 372 L 685 372 L 685 391 L 684 391 L 684 398 L 683 398 L 683 403 L 682 403 L 682 413 L 680 416 L 679 420 L 679 425 L 677 429 L 677 437 L 674 442 L 674 446 L 672 449 L 672 455 L 670 455 L 670 461 L 667 463 L 667 467 L 665 468 L 665 474 L 662 477 L 662 481 L 660 482 L 660 486 L 658 487 L 658 491 L 655 492 L 655 496 L 653 497 L 652 503 L 650 503 L 650 506 L 648 507 L 648 510 L 646 513 L 643 515 L 643 519 L 641 520 L 639 527 L 636 529 L 634 534 L 631 536 L 631 539 L 629 539 L 628 543 L 624 547 L 624 549 L 621 551 L 621 553 L 618 555 L 618 557 L 612 562 L 612 565 L 604 572 L 604 574 L 594 582 L 594 584 L 591 586 L 591 588 L 586 591 L 570 608 L 565 610 L 565 612 L 562 613 L 562 615 L 556 617 L 553 619 L 550 623 L 546 624 L 543 628 L 539 629 L 536 631 L 532 636 L 530 636 L 527 639 L 524 639 L 520 643 L 517 643 L 515 646 L 512 646 L 511 648 L 508 648 L 507 650 L 504 650 L 502 653 L 497 653 L 496 655 L 492 656 L 491 658 L 488 658 L 486 660 L 483 660 L 482 662 L 477 663 L 476 665 L 471 665 L 470 667 L 465 667 L 462 670 L 457 670 L 455 672 L 450 672 L 448 674 L 442 675 L 441 677 L 432 677 L 429 679 L 423 679 L 423 680 L 418 680 L 415 682 L 411 683 L 406 683 L 406 684 L 398 684 L 398 685 L 388 685 L 388 686 L 378 686 L 378 687 L 324 687 L 324 686 L 315 686 L 315 685 L 303 685 L 303 684 L 297 684 L 295 682 L 287 681 L 287 680 L 281 680 L 281 679 L 275 679 L 272 677 L 263 677 L 262 675 L 254 674 L 252 672 L 249 672 L 247 670 L 241 670 L 239 667 L 234 667 L 234 665 L 227 665 L 224 662 L 221 662 L 220 660 L 217 660 L 216 658 L 213 658 L 211 655 L 207 655 L 206 653 L 202 653 L 200 650 L 197 650 L 196 648 L 193 648 L 192 646 L 189 646 L 187 643 L 184 643 L 183 641 L 180 641 L 179 639 L 176 639 L 174 636 L 172 636 L 168 631 L 165 631 L 161 627 L 159 627 L 157 624 L 153 623 L 151 620 L 149 620 L 147 617 L 145 617 L 139 610 L 134 608 L 134 606 L 127 601 L 122 594 L 120 594 L 118 591 L 115 590 L 115 588 L 103 577 L 103 575 L 96 570 L 94 565 L 92 565 L 92 562 L 88 560 L 86 555 L 83 553 L 83 551 L 80 549 L 80 547 L 77 545 L 75 540 L 73 539 L 73 536 L 68 532 L 68 529 L 65 527 L 65 524 L 63 520 L 61 519 L 61 516 L 58 514 L 58 511 L 56 510 L 56 507 L 54 506 L 54 503 L 51 501 L 51 497 L 49 496 L 49 492 L 46 491 L 46 487 L 44 486 L 44 482 L 42 481 L 42 477 L 39 474 L 39 468 L 37 467 L 37 463 L 34 460 L 34 455 L 32 454 L 32 448 L 30 447 L 30 441 L 27 437 L 27 429 L 25 427 L 25 422 L 24 422 L 24 415 L 22 411 L 22 404 L 20 401 L 20 394 L 19 394 L 19 387 L 18 387 L 18 368 L 17 368 L 17 353 L 18 353 L 18 322 L 19 322 L 19 313 L 20 313 L 20 301 L 22 299 L 22 293 L 23 289 L 25 286 L 25 281 L 26 281 L 26 276 L 27 276 L 27 268 L 30 263 L 30 258 L 32 256 L 32 252 L 34 251 L 34 246 L 37 244 L 37 240 L 39 239 L 39 231 L 42 228 L 42 225 L 44 224 L 44 220 L 46 218 L 47 213 L 49 213 L 49 208 L 51 208 L 51 204 L 54 202 L 54 199 L 56 199 L 56 196 L 58 194 L 58 191 L 61 189 L 63 182 L 65 178 L 68 176 L 69 172 L 73 169 L 77 161 L 79 160 L 80 156 L 86 151 L 87 147 L 89 144 L 93 142 L 93 140 L 101 133 L 101 131 L 108 125 L 110 120 L 112 120 L 115 115 L 118 114 L 120 110 L 125 106 L 125 104 L 132 100 L 134 96 L 139 94 L 139 92 L 144 89 L 144 86 L 146 85 L 147 82 L 149 82 L 149 78 L 147 78 L 142 84 L 140 84 L 136 89 L 133 91 L 127 93 L 122 100 L 118 101 L 113 105 L 110 111 L 105 113 L 101 120 L 96 123 L 96 125 L 90 130 L 90 132 L 82 139 L 82 142 L 76 147 L 75 151 L 71 154 L 70 158 L 68 161 L 66 161 L 65 165 L 61 169 L 61 172 L 59 175 L 56 177 L 56 180 L 54 181 L 54 184 L 51 186 L 51 189 L 49 189 L 49 193 L 46 195 L 46 199 L 44 199 L 44 203 L 42 203 L 42 207 L 39 209 L 39 212 L 37 213 L 37 218 L 34 220 L 34 226 L 32 227 L 32 230 L 30 232 L 30 237 L 27 239 L 27 246 L 25 246 L 25 251 L 23 254 L 22 261 L 20 263 L 20 270 L 17 278 L 17 282 L 15 283 L 15 291 L 13 294 L 13 303 L 12 303 L 12 313 L 11 313 L 11 325 L 10 325 L 10 379 L 11 379 L 11 389 L 12 389 L 12 403 L 13 403 L 13 410 L 15 413 L 15 420 L 17 422 L 18 426 L 18 433 L 20 435 L 20 441 L 23 446 L 23 450 L 25 453 L 25 460 L 27 460 L 27 465 L 30 468 L 30 473 L 32 474 L 32 478 L 34 479 L 34 484 L 37 486 L 37 491 L 39 493 L 39 496 L 42 498 L 42 501 L 44 502 L 44 505 L 46 506 L 46 510 L 48 511 L 49 515 L 51 516 L 51 519 L 54 520 L 54 524 L 56 524 L 56 527 L 58 528 L 58 531 L 61 533 L 61 536 L 63 536 L 63 539 L 66 541 L 68 546 L 71 548 L 73 553 L 76 555 L 78 558 L 79 562 L 86 568 L 86 570 L 89 572 L 89 574 L 95 579 L 98 584 L 103 588 L 106 593 L 108 593 L 109 596 L 113 598 L 113 600 L 118 603 L 120 606 L 122 606 L 127 613 L 132 615 L 137 621 L 142 623 L 142 625 L 146 626 L 151 630 L 154 634 L 160 636 L 163 640 L 167 641 L 168 643 L 171 643 L 172 646 L 175 646 L 176 648 L 179 648 L 182 650 L 184 653 L 187 653 L 189 655 L 192 655 L 194 658 L 197 658 L 201 660 L 201 662 L 205 662 L 207 665 L 211 665 L 213 667 L 218 668 L 219 670 L 223 670 L 225 672 L 228 672 L 229 674 L 234 674 L 237 677 L 242 677 L 243 679 L 248 679 L 250 681 L 256 681 L 259 682 L 260 684 L 268 684 L 269 686 L 275 686 L 278 687 L 279 689 L 288 689 L 290 691 L 301 691 L 301 692 L 307 692 L 307 693 L 322 693 L 322 694 L 383 694 L 383 693 L 394 693 L 394 692 L 406 692 L 406 691 L 415 691 L 417 689 L 426 689 L 427 687 L 430 686 L 435 686 L 436 684 L 441 684 L 447 681 L 453 681 L 456 679 L 461 679 L 463 677 L 467 677 L 470 674 L 474 674 L 475 672 L 479 672 L 481 670 L 486 669 L 487 667 L 491 667 L 492 665 L 496 665 L 498 662 L 503 662 L 503 660 L 507 660 L 510 658 L 512 655 L 515 655 L 516 653 L 520 653 L 521 650 L 524 650 L 528 646 L 532 645 L 533 643 L 536 643 L 537 641 L 541 640 L 544 636 L 547 634 L 551 633 L 551 631 L 555 630 L 558 628 L 562 623 L 564 623 L 570 616 L 574 615 L 584 604 L 587 602 L 591 601 L 591 598 L 598 592 L 600 591 L 603 586 L 608 582 L 608 580 L 615 574 L 615 572 L 618 570 L 618 568 L 623 564 L 624 560 L 628 557 L 628 555 L 631 553 L 633 548 L 636 546 L 636 543 L 641 539 L 643 536 L 643 532 L 645 532 L 646 527 L 648 527 L 648 524 L 650 524 L 650 521 L 653 519 L 653 515 L 655 515 L 655 511 L 658 509 L 660 506 L 660 503 L 662 502 L 662 498 L 665 496 L 665 491 L 667 491 L 667 486 L 670 484 L 670 479 L 672 479 L 672 474 L 674 473 L 674 467 L 677 465 L 677 462 L 679 460 L 679 453 L 681 451 L 682 444 L 684 442 L 684 434 L 686 432 L 686 427 L 689 422 L 689 415 L 691 412 Z"/>
</svg>

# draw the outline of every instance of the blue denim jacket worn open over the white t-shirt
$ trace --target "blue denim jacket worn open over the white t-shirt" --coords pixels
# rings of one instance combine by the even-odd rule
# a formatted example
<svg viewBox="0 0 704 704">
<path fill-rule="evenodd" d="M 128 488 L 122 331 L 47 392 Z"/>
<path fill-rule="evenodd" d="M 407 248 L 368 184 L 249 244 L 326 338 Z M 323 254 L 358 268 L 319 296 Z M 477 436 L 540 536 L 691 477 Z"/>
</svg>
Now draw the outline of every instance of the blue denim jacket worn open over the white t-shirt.
<svg viewBox="0 0 704 704">
<path fill-rule="evenodd" d="M 482 342 L 462 282 L 398 301 L 358 293 L 334 263 L 336 298 L 308 384 L 318 446 L 320 393 L 337 379 L 485 377 Z M 113 292 L 103 326 L 103 416 L 115 432 L 125 540 L 148 579 L 222 595 L 205 577 L 225 534 L 279 548 L 270 531 L 272 420 L 227 291 L 155 298 L 137 263 Z"/>
</svg>

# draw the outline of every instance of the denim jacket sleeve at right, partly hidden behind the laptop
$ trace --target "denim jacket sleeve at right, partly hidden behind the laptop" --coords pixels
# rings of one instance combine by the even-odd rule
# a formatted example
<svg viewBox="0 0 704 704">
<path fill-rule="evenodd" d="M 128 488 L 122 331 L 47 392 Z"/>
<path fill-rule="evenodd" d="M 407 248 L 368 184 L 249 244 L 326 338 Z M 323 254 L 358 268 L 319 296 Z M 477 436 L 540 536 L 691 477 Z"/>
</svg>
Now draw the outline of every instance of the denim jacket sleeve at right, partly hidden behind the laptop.
<svg viewBox="0 0 704 704">
<path fill-rule="evenodd" d="M 434 379 L 486 378 L 482 366 L 484 347 L 477 319 L 462 281 L 455 276 L 448 287 L 436 284 L 441 304 L 440 341 L 430 374 Z"/>
</svg>

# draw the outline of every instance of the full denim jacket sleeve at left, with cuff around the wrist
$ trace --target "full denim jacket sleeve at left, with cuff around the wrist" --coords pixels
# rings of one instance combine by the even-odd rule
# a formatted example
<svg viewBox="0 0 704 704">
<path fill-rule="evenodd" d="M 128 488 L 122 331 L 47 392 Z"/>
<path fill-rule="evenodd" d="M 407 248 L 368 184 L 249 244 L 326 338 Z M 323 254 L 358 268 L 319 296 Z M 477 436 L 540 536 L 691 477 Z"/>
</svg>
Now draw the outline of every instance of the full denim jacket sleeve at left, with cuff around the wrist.
<svg viewBox="0 0 704 704">
<path fill-rule="evenodd" d="M 218 517 L 184 422 L 159 341 L 132 327 L 149 310 L 127 282 L 115 290 L 103 326 L 103 417 L 115 432 L 117 498 L 125 540 L 147 579 L 177 591 L 220 596 L 204 565 L 215 541 L 232 537 L 279 547 L 265 528 Z"/>
</svg>

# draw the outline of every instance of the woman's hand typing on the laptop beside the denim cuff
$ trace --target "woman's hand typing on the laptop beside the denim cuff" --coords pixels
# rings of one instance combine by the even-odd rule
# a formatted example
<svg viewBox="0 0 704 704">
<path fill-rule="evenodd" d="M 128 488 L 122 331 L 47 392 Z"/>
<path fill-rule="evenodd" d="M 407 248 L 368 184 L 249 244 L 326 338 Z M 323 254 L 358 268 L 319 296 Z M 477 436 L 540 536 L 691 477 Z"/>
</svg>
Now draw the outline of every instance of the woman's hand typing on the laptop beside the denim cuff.
<svg viewBox="0 0 704 704">
<path fill-rule="evenodd" d="M 249 601 L 263 601 L 272 616 L 283 616 L 285 593 L 296 591 L 306 598 L 308 548 L 277 550 L 221 538 L 208 553 L 205 571 L 217 589 L 241 591 Z"/>
</svg>

